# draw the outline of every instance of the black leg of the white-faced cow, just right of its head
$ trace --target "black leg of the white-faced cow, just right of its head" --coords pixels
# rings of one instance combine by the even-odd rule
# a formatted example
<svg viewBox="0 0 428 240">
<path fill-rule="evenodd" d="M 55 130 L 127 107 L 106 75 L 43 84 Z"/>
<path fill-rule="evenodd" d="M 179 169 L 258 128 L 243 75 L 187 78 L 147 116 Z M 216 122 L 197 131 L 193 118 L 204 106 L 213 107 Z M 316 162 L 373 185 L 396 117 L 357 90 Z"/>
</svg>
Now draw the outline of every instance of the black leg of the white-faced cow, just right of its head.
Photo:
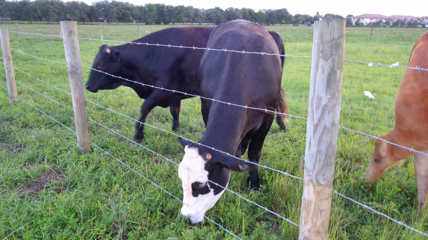
<svg viewBox="0 0 428 240">
<path fill-rule="evenodd" d="M 265 122 L 254 134 L 253 138 L 250 141 L 248 146 L 248 159 L 251 162 L 259 163 L 260 156 L 262 156 L 262 147 L 265 142 L 266 135 L 268 135 L 270 126 L 273 122 L 273 114 L 269 114 L 265 118 Z M 247 184 L 250 184 L 250 188 L 254 190 L 259 190 L 259 173 L 257 172 L 258 166 L 250 164 L 249 176 L 247 178 Z"/>
</svg>

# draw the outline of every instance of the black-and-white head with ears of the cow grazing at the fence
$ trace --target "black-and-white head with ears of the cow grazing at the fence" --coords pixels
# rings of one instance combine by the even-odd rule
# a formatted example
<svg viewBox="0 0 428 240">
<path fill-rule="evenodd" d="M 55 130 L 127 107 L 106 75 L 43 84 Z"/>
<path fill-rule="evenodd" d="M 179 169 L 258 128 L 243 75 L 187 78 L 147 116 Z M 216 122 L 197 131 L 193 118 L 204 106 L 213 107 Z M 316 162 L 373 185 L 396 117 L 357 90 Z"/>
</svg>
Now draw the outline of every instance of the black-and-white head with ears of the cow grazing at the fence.
<svg viewBox="0 0 428 240">
<path fill-rule="evenodd" d="M 204 220 L 205 212 L 215 205 L 225 191 L 224 188 L 229 184 L 230 171 L 247 171 L 249 165 L 233 156 L 181 138 L 177 141 L 184 147 L 185 152 L 178 166 L 184 203 L 181 207 L 181 217 L 189 218 L 192 224 L 200 223 Z"/>
</svg>

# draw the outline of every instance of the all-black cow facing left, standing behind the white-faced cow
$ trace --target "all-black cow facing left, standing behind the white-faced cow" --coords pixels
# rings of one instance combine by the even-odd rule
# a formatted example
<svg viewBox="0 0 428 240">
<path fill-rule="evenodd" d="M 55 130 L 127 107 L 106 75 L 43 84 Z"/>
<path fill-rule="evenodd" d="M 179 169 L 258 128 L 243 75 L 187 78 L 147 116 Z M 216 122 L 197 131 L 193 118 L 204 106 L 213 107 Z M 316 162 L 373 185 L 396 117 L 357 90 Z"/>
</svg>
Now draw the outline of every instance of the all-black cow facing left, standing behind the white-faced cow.
<svg viewBox="0 0 428 240">
<path fill-rule="evenodd" d="M 144 124 L 142 123 L 146 121 L 147 114 L 156 106 L 169 107 L 172 115 L 172 130 L 177 130 L 181 100 L 192 96 L 143 86 L 139 83 L 198 95 L 199 80 L 197 73 L 204 50 L 135 43 L 159 43 L 205 48 L 213 29 L 214 27 L 200 26 L 167 28 L 134 40 L 134 44 L 102 45 L 92 67 L 102 72 L 92 70 L 85 87 L 88 91 L 95 93 L 98 90 L 115 89 L 123 85 L 131 87 L 140 98 L 146 99 L 141 105 L 141 116 L 136 124 L 134 137 L 136 140 L 143 139 Z M 281 38 L 275 32 L 271 32 L 271 34 L 277 40 L 278 48 L 282 49 L 283 52 L 284 45 Z M 103 72 L 130 81 L 115 78 Z M 281 94 L 284 95 L 283 92 Z M 286 113 L 286 109 L 278 109 L 278 111 Z M 277 121 L 280 128 L 285 130 L 284 121 L 280 117 L 277 118 Z"/>
</svg>

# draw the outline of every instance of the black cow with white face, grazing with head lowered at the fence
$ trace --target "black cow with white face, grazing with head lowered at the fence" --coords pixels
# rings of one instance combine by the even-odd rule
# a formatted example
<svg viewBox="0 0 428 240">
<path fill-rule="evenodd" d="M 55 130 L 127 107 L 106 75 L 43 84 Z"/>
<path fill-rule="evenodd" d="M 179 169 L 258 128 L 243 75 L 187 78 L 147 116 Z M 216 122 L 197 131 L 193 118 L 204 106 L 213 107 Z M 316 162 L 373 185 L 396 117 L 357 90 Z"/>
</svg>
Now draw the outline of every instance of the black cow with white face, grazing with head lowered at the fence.
<svg viewBox="0 0 428 240">
<path fill-rule="evenodd" d="M 246 20 L 233 20 L 217 26 L 208 48 L 278 53 L 278 47 L 262 26 Z M 275 109 L 280 101 L 282 67 L 277 55 L 242 54 L 206 50 L 199 66 L 200 95 L 243 106 Z M 282 96 L 283 97 L 283 96 Z M 183 186 L 181 216 L 190 223 L 202 222 L 229 184 L 230 171 L 250 171 L 247 182 L 258 189 L 257 165 L 240 157 L 248 147 L 248 159 L 258 163 L 265 137 L 274 115 L 262 110 L 228 106 L 201 98 L 206 131 L 199 144 L 178 138 L 184 157 L 178 167 Z M 285 108 L 280 106 L 279 108 Z M 214 147 L 233 156 L 227 156 Z M 190 171 L 189 171 L 190 170 Z M 212 181 L 209 182 L 208 180 Z"/>
</svg>

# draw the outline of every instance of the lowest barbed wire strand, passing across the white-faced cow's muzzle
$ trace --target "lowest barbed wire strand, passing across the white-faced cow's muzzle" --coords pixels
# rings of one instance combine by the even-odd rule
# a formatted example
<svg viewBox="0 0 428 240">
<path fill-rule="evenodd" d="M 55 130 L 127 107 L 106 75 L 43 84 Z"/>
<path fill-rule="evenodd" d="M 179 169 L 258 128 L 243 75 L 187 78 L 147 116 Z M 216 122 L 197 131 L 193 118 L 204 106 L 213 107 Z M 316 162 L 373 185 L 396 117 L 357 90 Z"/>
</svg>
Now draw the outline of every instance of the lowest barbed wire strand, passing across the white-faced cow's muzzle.
<svg viewBox="0 0 428 240">
<path fill-rule="evenodd" d="M 0 87 L 2 87 L 4 90 L 7 91 L 7 89 L 5 87 L 3 87 L 2 85 L 0 85 Z M 30 104 L 29 102 L 25 101 L 23 98 L 19 97 L 22 101 L 26 102 L 27 104 L 29 104 L 31 107 L 34 107 L 32 104 Z M 53 121 L 56 121 L 58 124 L 62 125 L 63 127 L 65 127 L 66 129 L 70 130 L 73 133 L 76 133 L 74 130 L 72 130 L 71 128 L 65 126 L 64 124 L 62 124 L 61 122 L 57 121 L 56 119 L 54 119 L 53 117 L 49 116 L 48 114 L 44 113 L 42 110 L 39 110 L 37 107 L 34 107 L 36 110 L 38 110 L 40 113 L 43 113 L 45 116 L 48 116 L 50 119 L 52 119 Z M 136 170 L 134 170 L 134 168 L 131 168 L 130 166 L 128 166 L 126 163 L 122 162 L 121 160 L 117 159 L 116 157 L 114 157 L 113 155 L 111 155 L 110 153 L 108 153 L 107 151 L 105 151 L 104 149 L 102 149 L 101 147 L 98 147 L 97 145 L 95 145 L 93 142 L 90 142 L 92 145 L 94 145 L 96 148 L 98 148 L 99 150 L 103 151 L 104 153 L 106 153 L 107 155 L 111 156 L 113 159 L 115 159 L 116 161 L 120 162 L 122 165 L 125 165 L 127 168 L 129 168 L 131 171 L 133 171 L 134 173 L 137 173 L 138 175 L 140 175 L 141 177 L 143 177 L 144 179 L 146 179 L 146 181 L 152 183 L 153 185 L 155 185 L 157 188 L 160 188 L 162 191 L 164 191 L 166 194 L 170 195 L 171 197 L 175 198 L 176 200 L 180 201 L 182 204 L 187 205 L 189 208 L 192 208 L 191 206 L 189 206 L 188 204 L 184 203 L 183 201 L 181 201 L 178 197 L 175 197 L 173 194 L 169 193 L 168 191 L 166 191 L 165 189 L 163 189 L 162 187 L 160 187 L 158 184 L 156 184 L 155 182 L 152 182 L 150 179 L 146 178 L 145 176 L 143 176 L 141 173 L 137 172 Z M 194 211 L 196 211 L 197 213 L 201 214 L 199 211 L 197 211 L 196 209 L 192 208 Z M 202 215 L 202 214 L 201 214 Z M 221 229 L 223 229 L 224 231 L 226 231 L 227 233 L 231 234 L 232 236 L 234 236 L 235 238 L 242 240 L 242 238 L 238 237 L 237 235 L 233 234 L 232 232 L 230 232 L 229 230 L 227 230 L 226 228 L 223 228 L 223 226 L 221 226 L 220 224 L 214 222 L 214 220 L 211 220 L 209 217 L 205 216 L 205 214 L 203 215 L 207 220 L 209 220 L 210 222 L 214 223 L 215 225 L 219 226 Z"/>
</svg>

